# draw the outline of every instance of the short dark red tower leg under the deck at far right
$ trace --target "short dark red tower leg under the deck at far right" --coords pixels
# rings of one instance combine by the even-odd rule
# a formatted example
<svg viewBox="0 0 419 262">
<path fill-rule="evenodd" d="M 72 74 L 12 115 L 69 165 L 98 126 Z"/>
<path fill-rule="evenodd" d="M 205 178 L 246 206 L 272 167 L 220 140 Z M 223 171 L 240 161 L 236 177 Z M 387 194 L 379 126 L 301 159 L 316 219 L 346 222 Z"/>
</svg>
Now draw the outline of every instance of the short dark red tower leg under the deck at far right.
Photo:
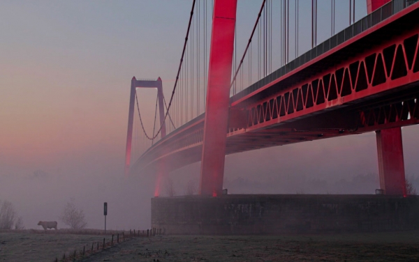
<svg viewBox="0 0 419 262">
<path fill-rule="evenodd" d="M 384 194 L 406 195 L 402 129 L 376 131 L 380 187 Z"/>
</svg>

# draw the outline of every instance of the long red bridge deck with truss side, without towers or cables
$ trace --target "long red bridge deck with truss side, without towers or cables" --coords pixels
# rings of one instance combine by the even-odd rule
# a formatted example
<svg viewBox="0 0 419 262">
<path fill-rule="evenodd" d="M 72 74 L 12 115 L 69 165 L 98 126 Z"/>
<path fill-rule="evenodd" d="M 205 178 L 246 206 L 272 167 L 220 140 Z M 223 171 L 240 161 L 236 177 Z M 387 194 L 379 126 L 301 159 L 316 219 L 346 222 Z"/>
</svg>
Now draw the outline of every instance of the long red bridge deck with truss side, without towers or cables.
<svg viewBox="0 0 419 262">
<path fill-rule="evenodd" d="M 418 3 L 397 12 L 233 96 L 225 154 L 417 124 Z M 132 169 L 156 170 L 165 162 L 173 170 L 200 161 L 205 117 L 168 134 Z"/>
</svg>

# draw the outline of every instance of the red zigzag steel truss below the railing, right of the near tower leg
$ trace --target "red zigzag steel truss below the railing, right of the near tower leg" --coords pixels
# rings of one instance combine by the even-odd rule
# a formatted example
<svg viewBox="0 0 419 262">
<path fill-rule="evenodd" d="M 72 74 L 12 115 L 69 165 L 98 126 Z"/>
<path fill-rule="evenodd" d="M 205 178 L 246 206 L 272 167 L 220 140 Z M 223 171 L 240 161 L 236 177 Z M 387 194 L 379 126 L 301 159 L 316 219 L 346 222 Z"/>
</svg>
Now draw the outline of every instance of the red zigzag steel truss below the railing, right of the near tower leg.
<svg viewBox="0 0 419 262">
<path fill-rule="evenodd" d="M 304 82 L 249 105 L 247 130 L 373 99 L 419 81 L 418 33 L 385 42 Z"/>
</svg>

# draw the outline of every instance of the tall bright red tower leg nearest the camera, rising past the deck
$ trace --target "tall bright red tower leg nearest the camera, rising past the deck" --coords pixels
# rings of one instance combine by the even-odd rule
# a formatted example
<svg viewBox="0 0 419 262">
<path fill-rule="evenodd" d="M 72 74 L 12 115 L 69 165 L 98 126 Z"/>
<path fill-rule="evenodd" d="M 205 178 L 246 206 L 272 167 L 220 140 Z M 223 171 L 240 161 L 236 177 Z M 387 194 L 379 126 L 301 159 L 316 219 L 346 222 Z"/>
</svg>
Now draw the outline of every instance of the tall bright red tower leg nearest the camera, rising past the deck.
<svg viewBox="0 0 419 262">
<path fill-rule="evenodd" d="M 214 1 L 200 171 L 203 195 L 217 196 L 223 190 L 236 9 L 237 0 Z"/>
</svg>

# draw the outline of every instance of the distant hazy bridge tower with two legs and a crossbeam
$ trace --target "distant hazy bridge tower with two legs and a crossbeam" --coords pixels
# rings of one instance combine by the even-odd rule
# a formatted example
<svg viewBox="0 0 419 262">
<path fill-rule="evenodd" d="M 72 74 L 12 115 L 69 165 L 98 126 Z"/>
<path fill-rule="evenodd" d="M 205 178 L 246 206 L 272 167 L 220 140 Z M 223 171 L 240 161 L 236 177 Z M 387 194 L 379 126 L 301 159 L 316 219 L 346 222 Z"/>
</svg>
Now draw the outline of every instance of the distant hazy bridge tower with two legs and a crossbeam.
<svg viewBox="0 0 419 262">
<path fill-rule="evenodd" d="M 157 98 L 159 100 L 159 116 L 161 125 L 161 138 L 166 137 L 166 125 L 164 123 L 164 97 L 163 84 L 161 78 L 157 80 L 137 80 L 135 77 L 131 79 L 131 93 L 129 95 L 128 108 L 128 131 L 126 133 L 126 150 L 125 150 L 125 176 L 129 174 L 129 167 L 131 162 L 131 143 L 133 140 L 133 121 L 134 121 L 134 107 L 135 107 L 135 93 L 137 88 L 157 88 Z"/>
</svg>

